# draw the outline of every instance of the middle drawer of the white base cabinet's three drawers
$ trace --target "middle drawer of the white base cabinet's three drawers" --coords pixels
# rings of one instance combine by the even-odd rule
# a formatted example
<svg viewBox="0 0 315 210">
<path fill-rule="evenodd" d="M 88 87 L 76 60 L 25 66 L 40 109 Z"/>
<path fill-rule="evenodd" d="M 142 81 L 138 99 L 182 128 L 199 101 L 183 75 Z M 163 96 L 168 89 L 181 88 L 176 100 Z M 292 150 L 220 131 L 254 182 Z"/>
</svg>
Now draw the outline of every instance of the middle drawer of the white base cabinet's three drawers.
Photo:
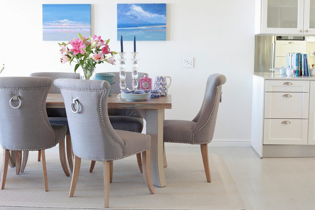
<svg viewBox="0 0 315 210">
<path fill-rule="evenodd" d="M 308 119 L 309 93 L 266 92 L 265 118 Z"/>
</svg>

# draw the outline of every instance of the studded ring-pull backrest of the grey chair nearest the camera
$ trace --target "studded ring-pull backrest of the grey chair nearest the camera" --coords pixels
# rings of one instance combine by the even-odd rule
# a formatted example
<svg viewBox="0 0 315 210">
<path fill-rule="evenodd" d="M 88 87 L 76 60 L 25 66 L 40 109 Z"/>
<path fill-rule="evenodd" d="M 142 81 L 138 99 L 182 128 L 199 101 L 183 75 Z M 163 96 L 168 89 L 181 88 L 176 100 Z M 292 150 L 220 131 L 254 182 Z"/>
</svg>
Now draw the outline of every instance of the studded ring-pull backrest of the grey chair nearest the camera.
<svg viewBox="0 0 315 210">
<path fill-rule="evenodd" d="M 96 161 L 123 158 L 124 142 L 112 128 L 107 114 L 110 84 L 105 80 L 56 79 L 54 85 L 65 102 L 73 153 Z M 77 102 L 72 103 L 73 99 Z M 79 110 L 73 113 L 78 109 L 76 103 Z"/>
</svg>

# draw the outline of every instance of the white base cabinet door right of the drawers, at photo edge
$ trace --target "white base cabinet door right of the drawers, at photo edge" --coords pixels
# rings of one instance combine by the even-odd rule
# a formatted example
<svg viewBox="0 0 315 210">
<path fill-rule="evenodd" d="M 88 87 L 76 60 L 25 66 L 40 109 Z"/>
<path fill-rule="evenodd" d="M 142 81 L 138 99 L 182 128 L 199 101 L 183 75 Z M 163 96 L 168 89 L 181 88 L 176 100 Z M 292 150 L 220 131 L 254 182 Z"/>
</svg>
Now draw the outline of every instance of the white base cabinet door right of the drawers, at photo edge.
<svg viewBox="0 0 315 210">
<path fill-rule="evenodd" d="M 315 145 L 315 81 L 310 85 L 310 108 L 308 122 L 308 145 Z"/>
</svg>

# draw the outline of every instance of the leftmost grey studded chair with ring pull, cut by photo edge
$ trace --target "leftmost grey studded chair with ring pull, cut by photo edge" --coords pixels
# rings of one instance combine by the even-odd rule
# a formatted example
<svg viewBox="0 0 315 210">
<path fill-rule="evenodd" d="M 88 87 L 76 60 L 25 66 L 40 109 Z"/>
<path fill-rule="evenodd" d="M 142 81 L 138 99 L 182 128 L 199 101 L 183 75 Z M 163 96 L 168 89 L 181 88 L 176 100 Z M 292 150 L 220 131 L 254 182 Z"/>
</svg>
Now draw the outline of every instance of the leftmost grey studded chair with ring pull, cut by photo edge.
<svg viewBox="0 0 315 210">
<path fill-rule="evenodd" d="M 1 189 L 7 176 L 9 150 L 16 152 L 16 174 L 20 173 L 22 151 L 41 151 L 45 190 L 48 191 L 45 150 L 59 143 L 60 162 L 66 175 L 69 174 L 64 146 L 67 128 L 50 124 L 46 113 L 46 98 L 52 83 L 49 77 L 0 77 Z"/>
</svg>

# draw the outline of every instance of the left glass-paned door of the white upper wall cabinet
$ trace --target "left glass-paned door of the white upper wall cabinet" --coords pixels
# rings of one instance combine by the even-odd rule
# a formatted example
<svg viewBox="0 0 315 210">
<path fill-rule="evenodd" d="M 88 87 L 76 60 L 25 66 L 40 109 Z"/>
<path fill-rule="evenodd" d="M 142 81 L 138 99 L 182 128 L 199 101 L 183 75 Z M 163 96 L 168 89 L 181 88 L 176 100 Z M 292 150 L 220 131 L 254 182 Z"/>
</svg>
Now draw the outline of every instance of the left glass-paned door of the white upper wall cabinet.
<svg viewBox="0 0 315 210">
<path fill-rule="evenodd" d="M 262 0 L 261 6 L 262 33 L 303 34 L 304 0 Z"/>
</svg>

